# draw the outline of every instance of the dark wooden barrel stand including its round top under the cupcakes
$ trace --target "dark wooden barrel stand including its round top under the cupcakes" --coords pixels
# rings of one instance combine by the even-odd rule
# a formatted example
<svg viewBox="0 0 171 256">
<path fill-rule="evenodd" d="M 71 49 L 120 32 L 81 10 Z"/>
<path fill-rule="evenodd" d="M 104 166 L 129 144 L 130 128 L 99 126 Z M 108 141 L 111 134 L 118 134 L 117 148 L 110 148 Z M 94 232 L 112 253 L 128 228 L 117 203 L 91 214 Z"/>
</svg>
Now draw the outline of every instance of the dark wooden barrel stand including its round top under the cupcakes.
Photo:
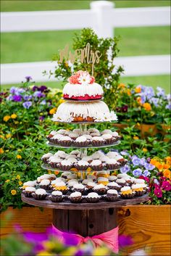
<svg viewBox="0 0 171 256">
<path fill-rule="evenodd" d="M 117 202 L 73 204 L 41 201 L 22 195 L 22 201 L 29 205 L 53 208 L 53 225 L 59 230 L 75 232 L 81 236 L 95 236 L 116 228 L 118 207 L 137 205 L 148 199 L 149 196 L 146 194 L 143 197 L 120 199 Z"/>
</svg>

